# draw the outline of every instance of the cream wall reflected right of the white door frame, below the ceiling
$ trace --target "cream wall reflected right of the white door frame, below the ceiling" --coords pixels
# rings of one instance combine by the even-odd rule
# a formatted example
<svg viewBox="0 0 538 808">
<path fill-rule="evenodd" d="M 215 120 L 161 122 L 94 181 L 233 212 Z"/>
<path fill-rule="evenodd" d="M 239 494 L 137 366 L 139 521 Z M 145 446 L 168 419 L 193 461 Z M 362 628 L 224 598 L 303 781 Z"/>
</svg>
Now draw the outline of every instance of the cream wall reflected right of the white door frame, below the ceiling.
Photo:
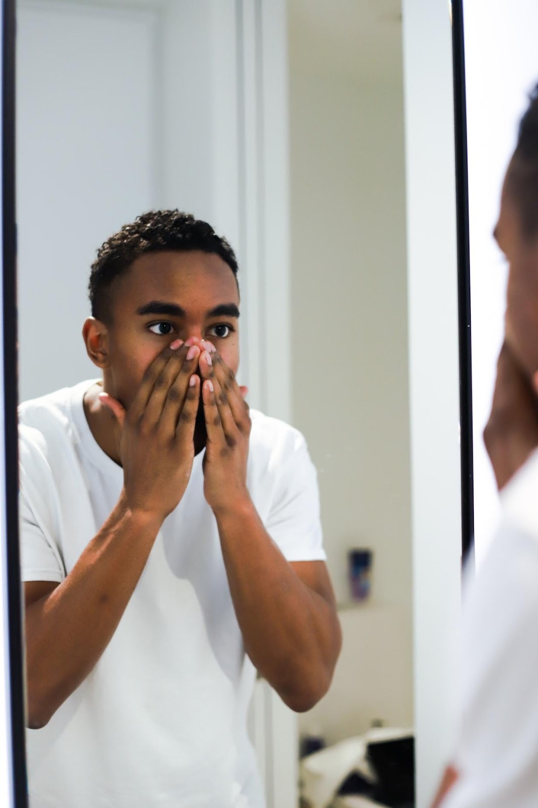
<svg viewBox="0 0 538 808">
<path fill-rule="evenodd" d="M 314 44 L 313 44 L 314 46 Z M 401 57 L 401 42 L 399 48 Z M 372 600 L 343 608 L 330 692 L 303 732 L 413 723 L 406 212 L 401 66 L 391 84 L 311 76 L 290 40 L 292 404 L 317 465 L 337 599 L 347 550 Z M 401 58 L 400 58 L 401 65 Z"/>
</svg>

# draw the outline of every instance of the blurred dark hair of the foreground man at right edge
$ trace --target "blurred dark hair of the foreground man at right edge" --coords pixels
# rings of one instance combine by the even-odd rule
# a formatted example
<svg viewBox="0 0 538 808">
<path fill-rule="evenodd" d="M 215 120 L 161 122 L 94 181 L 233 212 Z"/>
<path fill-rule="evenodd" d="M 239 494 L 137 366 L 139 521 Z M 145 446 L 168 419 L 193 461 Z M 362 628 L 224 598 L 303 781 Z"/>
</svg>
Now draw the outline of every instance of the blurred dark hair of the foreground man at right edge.
<svg viewBox="0 0 538 808">
<path fill-rule="evenodd" d="M 519 122 L 518 141 L 508 172 L 508 189 L 519 211 L 523 235 L 538 236 L 538 84 Z"/>
</svg>

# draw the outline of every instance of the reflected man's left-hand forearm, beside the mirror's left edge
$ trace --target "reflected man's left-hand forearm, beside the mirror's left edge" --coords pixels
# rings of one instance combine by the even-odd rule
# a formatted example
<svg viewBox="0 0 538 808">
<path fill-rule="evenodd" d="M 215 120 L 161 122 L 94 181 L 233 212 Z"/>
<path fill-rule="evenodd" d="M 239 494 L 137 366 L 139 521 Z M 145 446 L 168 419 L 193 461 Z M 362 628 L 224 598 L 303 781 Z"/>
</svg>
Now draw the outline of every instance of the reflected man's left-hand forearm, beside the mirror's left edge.
<svg viewBox="0 0 538 808">
<path fill-rule="evenodd" d="M 28 724 L 44 726 L 90 673 L 137 585 L 160 524 L 123 499 L 65 580 L 27 604 Z"/>
</svg>

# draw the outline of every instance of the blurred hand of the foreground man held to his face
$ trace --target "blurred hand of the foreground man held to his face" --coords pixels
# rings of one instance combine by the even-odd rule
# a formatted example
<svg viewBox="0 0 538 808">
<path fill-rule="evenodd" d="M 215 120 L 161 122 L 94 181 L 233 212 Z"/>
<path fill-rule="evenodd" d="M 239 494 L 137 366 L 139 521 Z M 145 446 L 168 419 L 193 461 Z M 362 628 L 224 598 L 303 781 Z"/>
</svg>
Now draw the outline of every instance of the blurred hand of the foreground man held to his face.
<svg viewBox="0 0 538 808">
<path fill-rule="evenodd" d="M 538 398 L 506 342 L 498 357 L 484 443 L 499 490 L 538 446 Z"/>
</svg>

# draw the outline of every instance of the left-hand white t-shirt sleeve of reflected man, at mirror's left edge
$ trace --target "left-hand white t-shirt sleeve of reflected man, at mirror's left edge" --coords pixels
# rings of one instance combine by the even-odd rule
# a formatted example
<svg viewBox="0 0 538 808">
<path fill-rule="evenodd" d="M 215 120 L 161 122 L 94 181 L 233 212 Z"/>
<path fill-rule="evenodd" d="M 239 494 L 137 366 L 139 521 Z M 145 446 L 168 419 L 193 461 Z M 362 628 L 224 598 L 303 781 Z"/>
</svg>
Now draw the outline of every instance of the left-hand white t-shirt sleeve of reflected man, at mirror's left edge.
<svg viewBox="0 0 538 808">
<path fill-rule="evenodd" d="M 57 548 L 45 537 L 23 492 L 19 493 L 21 577 L 24 581 L 57 581 L 65 572 Z"/>
</svg>

